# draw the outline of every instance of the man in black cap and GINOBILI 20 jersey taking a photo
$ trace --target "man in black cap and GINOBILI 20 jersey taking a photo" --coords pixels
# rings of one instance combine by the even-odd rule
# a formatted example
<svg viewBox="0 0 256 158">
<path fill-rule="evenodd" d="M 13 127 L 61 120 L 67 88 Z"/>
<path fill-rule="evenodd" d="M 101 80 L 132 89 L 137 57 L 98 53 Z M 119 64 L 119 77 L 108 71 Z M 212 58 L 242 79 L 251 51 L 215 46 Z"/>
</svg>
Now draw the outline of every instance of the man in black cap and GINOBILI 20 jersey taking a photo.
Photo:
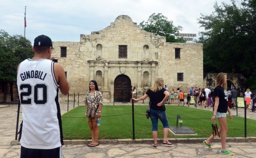
<svg viewBox="0 0 256 158">
<path fill-rule="evenodd" d="M 34 57 L 18 66 L 17 86 L 22 108 L 20 158 L 61 158 L 62 121 L 59 90 L 66 95 L 69 84 L 64 68 L 52 61 L 52 40 L 39 35 L 34 40 Z"/>
</svg>

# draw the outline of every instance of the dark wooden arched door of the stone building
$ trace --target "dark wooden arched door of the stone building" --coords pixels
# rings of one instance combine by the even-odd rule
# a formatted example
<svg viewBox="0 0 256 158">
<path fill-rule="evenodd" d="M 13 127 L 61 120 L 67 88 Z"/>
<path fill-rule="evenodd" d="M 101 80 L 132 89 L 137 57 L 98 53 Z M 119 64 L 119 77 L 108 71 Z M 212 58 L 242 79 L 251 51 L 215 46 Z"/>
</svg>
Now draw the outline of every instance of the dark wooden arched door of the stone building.
<svg viewBox="0 0 256 158">
<path fill-rule="evenodd" d="M 127 75 L 118 75 L 114 81 L 114 101 L 130 102 L 130 89 L 131 81 Z"/>
</svg>

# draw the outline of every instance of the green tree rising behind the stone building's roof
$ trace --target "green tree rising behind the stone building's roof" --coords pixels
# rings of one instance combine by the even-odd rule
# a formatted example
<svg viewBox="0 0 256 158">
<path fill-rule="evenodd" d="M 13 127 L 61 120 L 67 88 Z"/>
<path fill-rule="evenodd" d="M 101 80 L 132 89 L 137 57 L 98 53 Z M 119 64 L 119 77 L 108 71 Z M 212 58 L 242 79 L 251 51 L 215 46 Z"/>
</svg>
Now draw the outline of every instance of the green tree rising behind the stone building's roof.
<svg viewBox="0 0 256 158">
<path fill-rule="evenodd" d="M 167 17 L 161 13 L 150 15 L 147 22 L 142 21 L 139 27 L 155 35 L 165 36 L 166 42 L 186 42 L 183 38 L 176 37 L 176 34 L 182 31 L 182 27 L 173 26 L 173 21 L 168 21 Z"/>
</svg>

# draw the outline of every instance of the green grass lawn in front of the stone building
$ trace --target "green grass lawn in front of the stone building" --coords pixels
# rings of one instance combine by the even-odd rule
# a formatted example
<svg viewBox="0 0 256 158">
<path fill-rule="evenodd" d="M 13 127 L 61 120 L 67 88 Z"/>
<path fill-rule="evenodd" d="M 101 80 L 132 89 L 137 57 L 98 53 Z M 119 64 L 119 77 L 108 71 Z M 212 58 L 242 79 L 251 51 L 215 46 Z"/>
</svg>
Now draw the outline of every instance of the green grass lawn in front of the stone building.
<svg viewBox="0 0 256 158">
<path fill-rule="evenodd" d="M 152 138 L 152 125 L 145 111 L 147 105 L 134 106 L 135 139 Z M 176 126 L 177 114 L 183 120 L 182 126 L 190 127 L 198 135 L 173 136 L 168 138 L 204 138 L 211 135 L 212 111 L 187 106 L 166 106 L 169 126 Z M 228 120 L 227 137 L 244 137 L 244 118 L 233 116 Z M 216 119 L 218 124 L 218 119 Z M 132 106 L 103 106 L 99 139 L 133 139 Z M 256 120 L 247 119 L 247 137 L 255 137 Z M 78 106 L 62 116 L 64 139 L 91 139 L 90 128 L 86 121 L 85 106 Z M 180 123 L 178 123 L 180 126 Z M 219 127 L 219 125 L 218 125 Z M 159 120 L 158 138 L 163 138 L 163 125 Z"/>
</svg>

